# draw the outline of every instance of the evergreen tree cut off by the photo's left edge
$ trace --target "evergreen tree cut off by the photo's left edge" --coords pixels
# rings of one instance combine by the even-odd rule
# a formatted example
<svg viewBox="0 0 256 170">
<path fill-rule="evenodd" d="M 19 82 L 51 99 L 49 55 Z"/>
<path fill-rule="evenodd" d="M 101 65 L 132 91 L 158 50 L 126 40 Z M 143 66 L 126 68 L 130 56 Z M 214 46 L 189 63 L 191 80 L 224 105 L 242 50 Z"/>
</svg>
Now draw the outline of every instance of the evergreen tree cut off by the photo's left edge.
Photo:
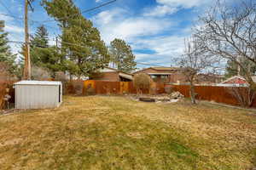
<svg viewBox="0 0 256 170">
<path fill-rule="evenodd" d="M 15 73 L 16 64 L 15 59 L 16 55 L 12 54 L 10 51 L 10 47 L 8 45 L 8 33 L 3 31 L 3 21 L 1 22 L 1 29 L 0 29 L 0 62 L 6 63 L 9 68 L 9 72 L 11 74 Z"/>
</svg>

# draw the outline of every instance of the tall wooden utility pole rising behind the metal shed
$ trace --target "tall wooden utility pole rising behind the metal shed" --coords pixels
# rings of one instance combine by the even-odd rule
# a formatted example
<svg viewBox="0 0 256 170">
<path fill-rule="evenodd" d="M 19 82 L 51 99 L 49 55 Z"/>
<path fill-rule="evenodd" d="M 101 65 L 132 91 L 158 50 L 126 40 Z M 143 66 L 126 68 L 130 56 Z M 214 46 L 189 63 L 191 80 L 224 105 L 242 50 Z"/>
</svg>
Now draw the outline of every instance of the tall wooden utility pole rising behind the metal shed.
<svg viewBox="0 0 256 170">
<path fill-rule="evenodd" d="M 28 33 L 28 5 L 31 6 L 29 0 L 25 0 L 25 65 L 23 72 L 24 80 L 31 80 L 31 58 L 30 58 L 30 44 Z M 32 6 L 31 6 L 32 7 Z"/>
</svg>

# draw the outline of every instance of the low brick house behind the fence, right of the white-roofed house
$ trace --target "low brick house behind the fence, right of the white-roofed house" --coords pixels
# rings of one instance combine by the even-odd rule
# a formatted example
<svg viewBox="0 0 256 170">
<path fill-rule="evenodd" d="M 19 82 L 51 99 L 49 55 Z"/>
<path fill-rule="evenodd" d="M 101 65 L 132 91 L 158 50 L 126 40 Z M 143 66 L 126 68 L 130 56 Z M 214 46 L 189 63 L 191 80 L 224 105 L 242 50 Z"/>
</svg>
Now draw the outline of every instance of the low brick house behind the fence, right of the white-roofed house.
<svg viewBox="0 0 256 170">
<path fill-rule="evenodd" d="M 134 75 L 139 73 L 148 74 L 154 82 L 186 82 L 186 77 L 182 73 L 182 68 L 179 67 L 149 67 L 141 71 L 134 72 Z"/>
</svg>

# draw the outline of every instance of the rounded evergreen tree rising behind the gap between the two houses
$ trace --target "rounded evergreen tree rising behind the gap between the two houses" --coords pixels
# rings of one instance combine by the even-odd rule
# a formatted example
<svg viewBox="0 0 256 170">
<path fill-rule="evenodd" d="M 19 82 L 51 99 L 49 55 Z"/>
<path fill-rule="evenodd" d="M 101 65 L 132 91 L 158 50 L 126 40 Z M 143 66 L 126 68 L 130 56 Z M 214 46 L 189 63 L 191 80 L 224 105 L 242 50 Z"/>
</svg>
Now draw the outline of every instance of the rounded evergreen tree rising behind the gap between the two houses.
<svg viewBox="0 0 256 170">
<path fill-rule="evenodd" d="M 118 70 L 126 72 L 135 70 L 137 63 L 132 54 L 131 46 L 118 38 L 115 38 L 110 44 L 111 61 L 117 65 Z"/>
</svg>

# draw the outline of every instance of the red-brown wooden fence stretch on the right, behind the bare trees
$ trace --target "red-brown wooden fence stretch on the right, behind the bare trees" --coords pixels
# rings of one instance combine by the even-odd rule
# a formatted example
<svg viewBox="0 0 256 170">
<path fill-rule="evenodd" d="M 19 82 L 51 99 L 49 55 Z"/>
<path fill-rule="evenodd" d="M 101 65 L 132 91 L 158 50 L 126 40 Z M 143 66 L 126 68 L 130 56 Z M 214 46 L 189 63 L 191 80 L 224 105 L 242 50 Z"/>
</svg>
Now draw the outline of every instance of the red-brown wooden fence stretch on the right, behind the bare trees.
<svg viewBox="0 0 256 170">
<path fill-rule="evenodd" d="M 185 97 L 190 97 L 189 86 L 172 85 L 175 91 L 180 92 Z M 234 87 L 233 87 L 234 88 Z M 195 86 L 196 99 L 215 101 L 228 105 L 240 105 L 237 99 L 230 94 L 229 88 L 218 86 Z M 253 107 L 256 107 L 256 99 L 253 99 Z"/>
</svg>

